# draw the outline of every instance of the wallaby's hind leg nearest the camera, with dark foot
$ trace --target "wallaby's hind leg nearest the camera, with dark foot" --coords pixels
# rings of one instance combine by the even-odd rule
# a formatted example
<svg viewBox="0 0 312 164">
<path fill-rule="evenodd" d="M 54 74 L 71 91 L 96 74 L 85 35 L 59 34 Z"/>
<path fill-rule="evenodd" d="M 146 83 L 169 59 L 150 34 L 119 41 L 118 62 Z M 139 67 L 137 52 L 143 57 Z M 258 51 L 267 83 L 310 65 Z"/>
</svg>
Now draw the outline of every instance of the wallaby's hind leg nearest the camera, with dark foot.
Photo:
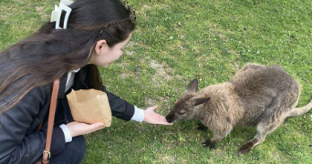
<svg viewBox="0 0 312 164">
<path fill-rule="evenodd" d="M 257 133 L 255 138 L 244 144 L 239 150 L 238 154 L 246 154 L 254 147 L 265 140 L 266 135 L 272 133 L 276 128 L 278 128 L 284 121 L 286 117 L 281 116 L 280 118 L 270 118 L 265 119 L 264 121 L 260 122 L 257 127 Z"/>
</svg>

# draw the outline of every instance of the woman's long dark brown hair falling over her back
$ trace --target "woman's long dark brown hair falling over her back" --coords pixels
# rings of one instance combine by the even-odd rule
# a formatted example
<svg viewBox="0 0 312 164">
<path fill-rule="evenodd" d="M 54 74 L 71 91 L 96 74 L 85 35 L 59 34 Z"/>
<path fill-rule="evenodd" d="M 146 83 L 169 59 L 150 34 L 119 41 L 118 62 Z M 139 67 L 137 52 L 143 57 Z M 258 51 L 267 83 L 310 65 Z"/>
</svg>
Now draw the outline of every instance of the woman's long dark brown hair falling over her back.
<svg viewBox="0 0 312 164">
<path fill-rule="evenodd" d="M 99 35 L 103 26 L 130 16 L 119 0 L 77 0 L 69 7 L 72 12 L 67 29 L 55 29 L 56 23 L 48 22 L 32 36 L 0 52 L 0 113 L 14 107 L 33 88 L 86 66 L 97 41 L 105 39 L 110 47 L 115 46 L 135 27 L 129 19 L 107 26 Z M 99 89 L 99 69 L 88 67 L 92 84 Z"/>
</svg>

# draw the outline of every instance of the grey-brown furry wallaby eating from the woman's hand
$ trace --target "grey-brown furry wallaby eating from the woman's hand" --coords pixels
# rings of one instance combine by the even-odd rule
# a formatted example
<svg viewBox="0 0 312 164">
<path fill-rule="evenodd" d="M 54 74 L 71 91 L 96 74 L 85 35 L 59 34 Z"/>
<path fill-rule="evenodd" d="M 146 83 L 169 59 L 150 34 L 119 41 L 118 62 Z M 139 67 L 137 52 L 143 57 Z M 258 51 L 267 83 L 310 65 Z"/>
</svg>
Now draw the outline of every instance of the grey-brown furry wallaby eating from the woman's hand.
<svg viewBox="0 0 312 164">
<path fill-rule="evenodd" d="M 262 143 L 287 117 L 303 115 L 312 108 L 312 100 L 307 106 L 296 108 L 299 84 L 279 66 L 248 64 L 228 82 L 196 93 L 197 89 L 198 81 L 192 80 L 166 116 L 167 121 L 201 120 L 213 132 L 213 137 L 203 142 L 211 149 L 235 126 L 255 126 L 255 138 L 244 144 L 239 154 Z"/>
</svg>

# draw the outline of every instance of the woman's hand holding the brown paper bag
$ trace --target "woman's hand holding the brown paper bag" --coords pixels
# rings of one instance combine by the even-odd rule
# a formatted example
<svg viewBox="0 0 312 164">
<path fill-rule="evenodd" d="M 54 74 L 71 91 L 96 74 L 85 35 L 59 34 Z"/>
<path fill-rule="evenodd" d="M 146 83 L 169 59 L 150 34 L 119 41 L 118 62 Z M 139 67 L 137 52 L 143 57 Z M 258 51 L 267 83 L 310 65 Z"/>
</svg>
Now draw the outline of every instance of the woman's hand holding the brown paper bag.
<svg viewBox="0 0 312 164">
<path fill-rule="evenodd" d="M 94 124 L 86 124 L 81 122 L 70 122 L 66 125 L 70 131 L 71 137 L 74 138 L 76 136 L 85 135 L 99 129 L 104 128 L 104 123 L 97 122 Z"/>
</svg>

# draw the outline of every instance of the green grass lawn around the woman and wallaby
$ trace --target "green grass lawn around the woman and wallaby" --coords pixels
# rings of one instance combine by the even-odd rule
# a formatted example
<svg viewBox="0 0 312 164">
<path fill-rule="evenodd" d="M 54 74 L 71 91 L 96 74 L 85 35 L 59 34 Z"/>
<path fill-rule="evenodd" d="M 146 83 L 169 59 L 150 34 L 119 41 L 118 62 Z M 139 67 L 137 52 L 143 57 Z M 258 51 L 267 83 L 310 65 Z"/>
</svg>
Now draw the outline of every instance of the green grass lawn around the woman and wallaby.
<svg viewBox="0 0 312 164">
<path fill-rule="evenodd" d="M 0 49 L 35 32 L 58 0 L 2 0 Z M 109 91 L 166 115 L 193 78 L 200 88 L 222 83 L 246 63 L 281 65 L 302 85 L 299 106 L 312 97 L 312 1 L 130 0 L 138 26 L 126 54 L 101 69 Z M 109 128 L 86 136 L 84 163 L 312 163 L 312 118 L 288 118 L 251 153 L 237 149 L 254 128 L 234 128 L 204 149 L 211 132 L 197 121 L 154 126 L 113 118 Z"/>
</svg>

